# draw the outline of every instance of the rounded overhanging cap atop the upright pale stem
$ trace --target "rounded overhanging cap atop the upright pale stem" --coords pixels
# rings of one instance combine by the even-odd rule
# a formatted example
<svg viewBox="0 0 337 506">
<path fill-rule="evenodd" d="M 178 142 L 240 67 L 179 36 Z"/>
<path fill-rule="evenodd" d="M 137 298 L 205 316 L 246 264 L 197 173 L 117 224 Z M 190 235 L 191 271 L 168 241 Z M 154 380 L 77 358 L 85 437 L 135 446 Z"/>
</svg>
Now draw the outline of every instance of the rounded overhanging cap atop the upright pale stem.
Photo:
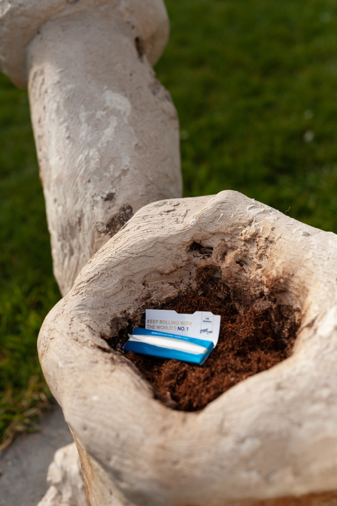
<svg viewBox="0 0 337 506">
<path fill-rule="evenodd" d="M 29 68 L 27 46 L 41 26 L 53 19 L 89 12 L 93 16 L 127 22 L 139 37 L 149 62 L 159 59 L 168 39 L 168 22 L 162 0 L 0 0 L 0 65 L 19 88 L 26 88 Z M 73 18 L 76 22 L 76 18 Z M 132 26 L 133 25 L 133 26 Z M 60 37 L 55 39 L 55 44 Z M 92 41 L 95 44 L 95 41 Z M 69 51 L 72 48 L 69 48 Z M 110 48 L 111 50 L 111 48 Z M 71 51 L 70 51 L 71 52 Z M 104 52 L 104 48 L 102 48 Z M 76 55 L 74 55 L 75 57 Z"/>
</svg>

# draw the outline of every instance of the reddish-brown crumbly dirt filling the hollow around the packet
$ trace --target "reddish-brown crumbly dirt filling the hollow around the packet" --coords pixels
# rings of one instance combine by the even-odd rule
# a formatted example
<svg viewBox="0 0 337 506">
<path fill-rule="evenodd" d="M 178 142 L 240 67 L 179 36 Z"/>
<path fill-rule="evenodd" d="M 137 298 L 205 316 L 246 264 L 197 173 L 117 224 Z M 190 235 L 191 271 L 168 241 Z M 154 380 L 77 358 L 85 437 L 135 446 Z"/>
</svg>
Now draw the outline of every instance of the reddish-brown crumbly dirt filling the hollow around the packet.
<svg viewBox="0 0 337 506">
<path fill-rule="evenodd" d="M 152 385 L 157 399 L 183 411 L 203 409 L 243 379 L 291 355 L 300 324 L 299 313 L 289 306 L 277 305 L 263 292 L 245 307 L 242 294 L 240 298 L 238 304 L 235 293 L 223 281 L 207 276 L 198 283 L 197 290 L 157 307 L 185 314 L 212 311 L 221 315 L 218 345 L 202 366 L 130 351 L 121 353 Z M 126 329 L 122 334 L 119 345 L 109 340 L 113 348 L 120 350 L 128 340 Z"/>
</svg>

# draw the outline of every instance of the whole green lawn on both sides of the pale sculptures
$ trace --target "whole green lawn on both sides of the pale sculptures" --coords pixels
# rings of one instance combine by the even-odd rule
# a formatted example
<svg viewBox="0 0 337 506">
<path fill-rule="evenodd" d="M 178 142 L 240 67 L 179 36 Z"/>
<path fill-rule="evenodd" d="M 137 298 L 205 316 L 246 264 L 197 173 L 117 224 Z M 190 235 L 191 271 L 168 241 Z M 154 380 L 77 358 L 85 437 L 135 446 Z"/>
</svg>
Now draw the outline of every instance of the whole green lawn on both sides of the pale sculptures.
<svg viewBox="0 0 337 506">
<path fill-rule="evenodd" d="M 185 196 L 234 189 L 337 232 L 337 5 L 166 6 L 171 39 L 156 71 L 180 117 Z M 60 294 L 27 95 L 5 76 L 0 146 L 0 438 L 9 440 L 46 403 L 36 338 Z"/>
</svg>

